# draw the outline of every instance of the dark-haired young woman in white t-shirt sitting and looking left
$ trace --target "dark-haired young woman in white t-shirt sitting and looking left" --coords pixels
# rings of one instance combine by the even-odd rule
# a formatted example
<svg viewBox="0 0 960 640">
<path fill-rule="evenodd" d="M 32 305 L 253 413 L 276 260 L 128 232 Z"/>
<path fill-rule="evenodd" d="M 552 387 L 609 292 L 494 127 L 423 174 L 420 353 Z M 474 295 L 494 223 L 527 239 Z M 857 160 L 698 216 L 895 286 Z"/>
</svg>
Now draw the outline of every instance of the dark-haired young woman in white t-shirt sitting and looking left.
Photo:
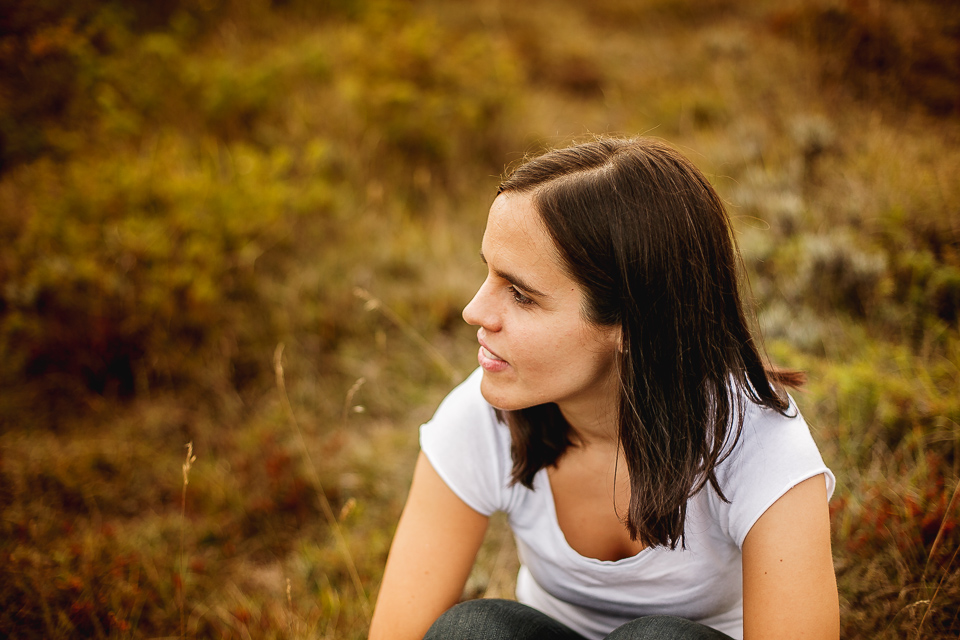
<svg viewBox="0 0 960 640">
<path fill-rule="evenodd" d="M 519 167 L 421 428 L 370 637 L 837 638 L 834 479 L 750 335 L 729 220 L 653 139 Z M 456 604 L 495 511 L 518 602 Z"/>
</svg>

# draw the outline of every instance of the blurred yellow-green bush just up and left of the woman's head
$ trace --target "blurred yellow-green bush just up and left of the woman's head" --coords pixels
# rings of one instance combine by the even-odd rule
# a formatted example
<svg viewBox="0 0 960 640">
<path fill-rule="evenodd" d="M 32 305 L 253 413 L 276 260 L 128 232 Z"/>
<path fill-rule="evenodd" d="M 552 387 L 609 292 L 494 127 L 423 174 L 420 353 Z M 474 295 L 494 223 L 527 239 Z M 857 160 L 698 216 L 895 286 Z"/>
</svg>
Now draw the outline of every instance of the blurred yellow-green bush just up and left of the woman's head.
<svg viewBox="0 0 960 640">
<path fill-rule="evenodd" d="M 430 19 L 373 14 L 344 44 L 342 95 L 392 156 L 437 171 L 479 154 L 500 163 L 519 77 L 492 39 Z M 372 43 L 376 43 L 372 46 Z"/>
</svg>

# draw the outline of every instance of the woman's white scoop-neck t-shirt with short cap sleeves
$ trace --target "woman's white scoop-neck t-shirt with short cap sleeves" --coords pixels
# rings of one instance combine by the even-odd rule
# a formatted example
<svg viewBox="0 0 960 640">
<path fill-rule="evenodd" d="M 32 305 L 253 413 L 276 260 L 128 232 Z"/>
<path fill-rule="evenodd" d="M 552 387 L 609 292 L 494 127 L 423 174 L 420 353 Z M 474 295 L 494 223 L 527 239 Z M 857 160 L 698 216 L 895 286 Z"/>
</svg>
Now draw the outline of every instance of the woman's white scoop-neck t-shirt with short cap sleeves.
<svg viewBox="0 0 960 640">
<path fill-rule="evenodd" d="M 729 503 L 707 486 L 690 499 L 686 548 L 648 547 L 616 561 L 574 551 L 557 524 L 546 469 L 533 490 L 510 485 L 510 431 L 480 394 L 478 369 L 420 428 L 420 446 L 444 482 L 484 515 L 507 513 L 520 555 L 517 600 L 600 639 L 634 618 L 675 615 L 743 637 L 741 547 L 761 514 L 796 484 L 833 474 L 806 422 L 747 403 L 733 454 L 716 469 Z"/>
</svg>

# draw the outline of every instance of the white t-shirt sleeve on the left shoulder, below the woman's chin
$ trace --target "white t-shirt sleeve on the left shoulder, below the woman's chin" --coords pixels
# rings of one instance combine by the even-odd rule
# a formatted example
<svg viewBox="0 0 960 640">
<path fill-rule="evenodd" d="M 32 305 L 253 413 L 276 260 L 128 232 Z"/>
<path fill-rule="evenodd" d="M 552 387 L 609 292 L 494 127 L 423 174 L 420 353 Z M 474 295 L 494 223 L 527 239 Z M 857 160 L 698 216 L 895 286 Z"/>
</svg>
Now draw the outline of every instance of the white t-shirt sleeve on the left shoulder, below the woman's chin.
<svg viewBox="0 0 960 640">
<path fill-rule="evenodd" d="M 450 489 L 488 516 L 510 500 L 510 436 L 480 394 L 478 369 L 420 427 L 420 449 Z"/>
</svg>

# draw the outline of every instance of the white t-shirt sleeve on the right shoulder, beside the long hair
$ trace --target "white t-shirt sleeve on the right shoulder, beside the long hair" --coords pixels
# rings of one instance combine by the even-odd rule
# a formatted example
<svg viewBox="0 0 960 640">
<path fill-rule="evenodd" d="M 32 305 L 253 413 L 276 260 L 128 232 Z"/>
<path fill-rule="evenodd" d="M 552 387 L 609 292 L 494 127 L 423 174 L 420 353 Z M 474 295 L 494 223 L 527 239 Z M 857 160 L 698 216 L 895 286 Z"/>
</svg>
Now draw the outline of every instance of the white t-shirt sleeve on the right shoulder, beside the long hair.
<svg viewBox="0 0 960 640">
<path fill-rule="evenodd" d="M 733 453 L 717 467 L 717 481 L 730 501 L 716 499 L 720 523 L 740 548 L 754 523 L 783 494 L 822 475 L 827 499 L 836 479 L 823 462 L 810 428 L 791 401 L 788 415 L 748 403 Z"/>
</svg>

